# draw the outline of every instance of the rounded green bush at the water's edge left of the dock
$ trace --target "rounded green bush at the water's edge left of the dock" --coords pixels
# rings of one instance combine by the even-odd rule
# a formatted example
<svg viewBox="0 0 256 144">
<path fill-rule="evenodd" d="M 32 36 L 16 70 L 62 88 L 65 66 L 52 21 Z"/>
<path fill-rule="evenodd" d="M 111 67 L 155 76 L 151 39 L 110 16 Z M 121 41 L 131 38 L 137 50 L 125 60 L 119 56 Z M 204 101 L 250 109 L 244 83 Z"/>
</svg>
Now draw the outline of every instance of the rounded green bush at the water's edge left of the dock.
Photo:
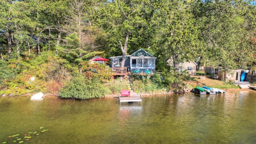
<svg viewBox="0 0 256 144">
<path fill-rule="evenodd" d="M 102 98 L 108 93 L 108 89 L 100 82 L 93 78 L 88 80 L 83 76 L 76 76 L 60 90 L 61 98 L 72 98 L 78 100 L 88 100 L 91 98 Z"/>
</svg>

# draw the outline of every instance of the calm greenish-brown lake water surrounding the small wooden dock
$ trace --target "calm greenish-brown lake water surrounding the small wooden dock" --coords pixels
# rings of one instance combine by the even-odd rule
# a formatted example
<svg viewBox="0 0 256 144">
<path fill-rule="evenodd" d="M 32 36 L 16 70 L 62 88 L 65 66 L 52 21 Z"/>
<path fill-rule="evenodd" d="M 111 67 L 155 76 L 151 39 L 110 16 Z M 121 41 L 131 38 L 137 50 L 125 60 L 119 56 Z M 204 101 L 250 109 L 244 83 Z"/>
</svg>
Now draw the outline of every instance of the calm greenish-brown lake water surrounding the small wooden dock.
<svg viewBox="0 0 256 144">
<path fill-rule="evenodd" d="M 0 97 L 0 144 L 255 144 L 256 92 L 192 93 L 88 101 Z M 39 127 L 44 127 L 39 129 Z M 48 129 L 38 133 L 39 130 Z M 29 141 L 24 134 L 31 134 Z"/>
</svg>

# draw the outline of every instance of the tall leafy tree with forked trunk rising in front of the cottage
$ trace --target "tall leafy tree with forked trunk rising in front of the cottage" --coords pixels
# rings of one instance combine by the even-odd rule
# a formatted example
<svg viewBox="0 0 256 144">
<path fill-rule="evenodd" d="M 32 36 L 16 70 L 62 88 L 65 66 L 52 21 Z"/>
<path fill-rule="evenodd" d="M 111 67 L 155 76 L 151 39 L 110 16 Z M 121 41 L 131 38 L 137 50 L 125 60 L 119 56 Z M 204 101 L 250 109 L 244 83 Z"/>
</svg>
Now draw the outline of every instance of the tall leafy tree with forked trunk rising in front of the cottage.
<svg viewBox="0 0 256 144">
<path fill-rule="evenodd" d="M 112 0 L 100 9 L 98 22 L 113 39 L 122 52 L 121 67 L 124 68 L 125 57 L 128 49 L 130 34 L 140 28 L 143 19 L 141 17 L 142 1 L 140 0 Z M 122 81 L 122 76 L 120 80 Z"/>
</svg>

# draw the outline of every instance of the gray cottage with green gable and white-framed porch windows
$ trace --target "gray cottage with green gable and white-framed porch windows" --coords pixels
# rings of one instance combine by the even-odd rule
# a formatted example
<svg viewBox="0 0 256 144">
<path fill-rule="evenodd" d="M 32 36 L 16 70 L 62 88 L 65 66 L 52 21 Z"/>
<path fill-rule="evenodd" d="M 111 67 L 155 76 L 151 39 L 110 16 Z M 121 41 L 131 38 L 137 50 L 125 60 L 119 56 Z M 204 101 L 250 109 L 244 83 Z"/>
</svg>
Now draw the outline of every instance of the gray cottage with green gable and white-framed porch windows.
<svg viewBox="0 0 256 144">
<path fill-rule="evenodd" d="M 110 57 L 111 67 L 120 68 L 122 62 L 122 56 Z M 145 72 L 146 70 L 150 72 L 155 71 L 156 57 L 152 56 L 142 48 L 137 50 L 131 55 L 125 57 L 124 67 L 127 67 L 128 71 L 134 72 Z"/>
</svg>

